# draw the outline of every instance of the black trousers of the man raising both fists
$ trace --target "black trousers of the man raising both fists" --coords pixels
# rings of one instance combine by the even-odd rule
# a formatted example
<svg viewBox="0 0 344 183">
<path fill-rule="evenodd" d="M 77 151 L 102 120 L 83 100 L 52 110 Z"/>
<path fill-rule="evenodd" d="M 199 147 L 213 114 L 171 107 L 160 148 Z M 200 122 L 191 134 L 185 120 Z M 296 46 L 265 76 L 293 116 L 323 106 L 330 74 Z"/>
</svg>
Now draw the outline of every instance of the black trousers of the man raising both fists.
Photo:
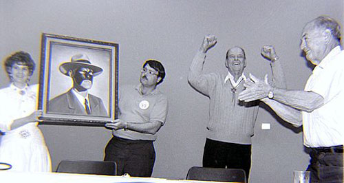
<svg viewBox="0 0 344 183">
<path fill-rule="evenodd" d="M 251 166 L 250 144 L 234 144 L 206 139 L 203 166 L 213 168 L 244 169 L 246 177 Z"/>
</svg>

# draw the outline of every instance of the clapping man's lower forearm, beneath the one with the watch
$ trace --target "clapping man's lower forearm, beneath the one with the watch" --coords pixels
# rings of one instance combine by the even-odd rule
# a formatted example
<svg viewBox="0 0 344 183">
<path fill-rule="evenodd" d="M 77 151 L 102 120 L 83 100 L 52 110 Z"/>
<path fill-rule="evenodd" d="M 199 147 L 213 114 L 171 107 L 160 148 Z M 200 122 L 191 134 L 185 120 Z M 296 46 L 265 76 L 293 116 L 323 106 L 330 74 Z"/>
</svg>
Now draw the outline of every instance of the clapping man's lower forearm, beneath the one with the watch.
<svg viewBox="0 0 344 183">
<path fill-rule="evenodd" d="M 269 98 L 261 99 L 266 105 L 275 111 L 275 113 L 281 117 L 286 122 L 289 122 L 294 127 L 300 127 L 302 125 L 302 114 L 298 109 L 289 107 L 288 105 L 283 105 L 282 103 L 277 102 Z"/>
</svg>

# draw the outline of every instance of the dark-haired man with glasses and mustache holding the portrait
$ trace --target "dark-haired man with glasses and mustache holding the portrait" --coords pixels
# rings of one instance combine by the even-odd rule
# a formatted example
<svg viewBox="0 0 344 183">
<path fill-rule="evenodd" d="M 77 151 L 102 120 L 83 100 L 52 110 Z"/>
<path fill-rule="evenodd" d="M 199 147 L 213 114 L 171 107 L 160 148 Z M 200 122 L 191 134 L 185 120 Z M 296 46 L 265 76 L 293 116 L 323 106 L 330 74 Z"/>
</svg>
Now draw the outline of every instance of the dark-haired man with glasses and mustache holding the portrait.
<svg viewBox="0 0 344 183">
<path fill-rule="evenodd" d="M 148 60 L 139 85 L 120 87 L 118 119 L 107 123 L 113 137 L 105 147 L 105 161 L 115 161 L 118 175 L 150 177 L 155 162 L 153 141 L 166 120 L 167 98 L 156 86 L 164 80 L 159 61 Z"/>
</svg>

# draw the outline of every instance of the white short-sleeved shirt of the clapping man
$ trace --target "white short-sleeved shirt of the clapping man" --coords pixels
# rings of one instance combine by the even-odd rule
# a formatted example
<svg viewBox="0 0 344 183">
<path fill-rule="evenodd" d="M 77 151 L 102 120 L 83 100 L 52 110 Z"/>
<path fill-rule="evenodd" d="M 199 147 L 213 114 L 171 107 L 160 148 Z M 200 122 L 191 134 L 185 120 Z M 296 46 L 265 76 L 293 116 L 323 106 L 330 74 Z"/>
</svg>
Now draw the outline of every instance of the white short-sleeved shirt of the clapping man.
<svg viewBox="0 0 344 183">
<path fill-rule="evenodd" d="M 324 105 L 302 112 L 303 144 L 306 147 L 331 147 L 344 144 L 344 52 L 335 47 L 317 65 L 305 91 L 323 96 Z"/>
</svg>

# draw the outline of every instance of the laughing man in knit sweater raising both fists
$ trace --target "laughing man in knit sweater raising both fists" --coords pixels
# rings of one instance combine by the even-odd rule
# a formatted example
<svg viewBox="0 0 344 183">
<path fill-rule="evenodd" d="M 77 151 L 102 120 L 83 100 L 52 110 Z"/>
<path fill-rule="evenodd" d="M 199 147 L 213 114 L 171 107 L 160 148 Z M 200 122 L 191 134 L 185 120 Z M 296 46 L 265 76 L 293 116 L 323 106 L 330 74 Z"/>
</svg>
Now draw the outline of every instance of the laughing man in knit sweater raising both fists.
<svg viewBox="0 0 344 183">
<path fill-rule="evenodd" d="M 246 55 L 241 47 L 232 47 L 226 53 L 226 74 L 202 74 L 206 52 L 217 43 L 213 35 L 204 37 L 193 58 L 189 83 L 210 99 L 206 144 L 203 166 L 214 168 L 244 169 L 250 173 L 251 137 L 258 114 L 259 101 L 239 103 L 237 94 L 244 90 Z M 263 56 L 271 57 L 272 74 L 277 76 L 276 85 L 285 87 L 278 56 L 270 46 L 261 50 Z"/>
</svg>

